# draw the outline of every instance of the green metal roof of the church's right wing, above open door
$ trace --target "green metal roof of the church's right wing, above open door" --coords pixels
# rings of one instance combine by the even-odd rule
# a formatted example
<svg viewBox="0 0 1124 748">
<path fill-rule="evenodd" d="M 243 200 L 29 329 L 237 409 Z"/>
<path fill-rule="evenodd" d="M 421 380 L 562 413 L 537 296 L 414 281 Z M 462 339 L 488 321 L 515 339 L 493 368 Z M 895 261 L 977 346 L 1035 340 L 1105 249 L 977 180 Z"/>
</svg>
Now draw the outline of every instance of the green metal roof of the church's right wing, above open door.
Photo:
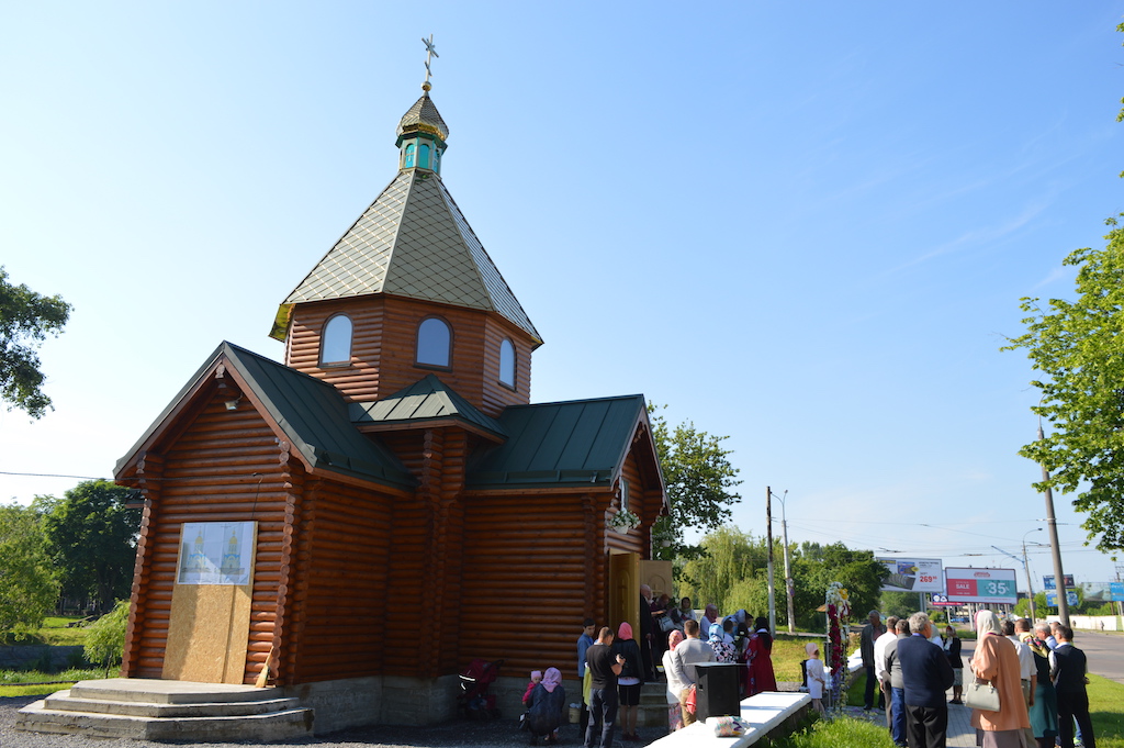
<svg viewBox="0 0 1124 748">
<path fill-rule="evenodd" d="M 506 443 L 469 461 L 466 486 L 513 488 L 609 485 L 624 465 L 640 423 L 643 395 L 516 405 L 499 417 Z"/>
</svg>

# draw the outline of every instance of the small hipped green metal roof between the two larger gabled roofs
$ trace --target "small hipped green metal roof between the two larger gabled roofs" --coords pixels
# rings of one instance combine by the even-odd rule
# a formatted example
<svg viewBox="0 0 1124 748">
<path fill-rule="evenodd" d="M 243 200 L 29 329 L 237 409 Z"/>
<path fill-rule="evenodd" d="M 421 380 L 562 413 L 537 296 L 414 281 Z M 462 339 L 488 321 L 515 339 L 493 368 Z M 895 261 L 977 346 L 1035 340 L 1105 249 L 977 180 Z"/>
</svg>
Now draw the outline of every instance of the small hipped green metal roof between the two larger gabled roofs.
<svg viewBox="0 0 1124 748">
<path fill-rule="evenodd" d="M 373 403 L 352 403 L 347 406 L 352 423 L 419 423 L 456 418 L 492 433 L 500 439 L 507 432 L 498 421 L 475 408 L 434 375 L 427 375 L 406 389 Z"/>
</svg>

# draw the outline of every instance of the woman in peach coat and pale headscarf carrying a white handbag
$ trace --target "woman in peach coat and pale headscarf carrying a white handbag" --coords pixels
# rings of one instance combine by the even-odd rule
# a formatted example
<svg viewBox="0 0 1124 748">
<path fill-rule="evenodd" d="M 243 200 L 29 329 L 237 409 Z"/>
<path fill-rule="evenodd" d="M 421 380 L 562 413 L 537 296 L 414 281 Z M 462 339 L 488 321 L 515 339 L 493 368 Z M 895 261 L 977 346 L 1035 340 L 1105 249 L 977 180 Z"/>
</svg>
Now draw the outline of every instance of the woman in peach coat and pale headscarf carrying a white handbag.
<svg viewBox="0 0 1124 748">
<path fill-rule="evenodd" d="M 972 710 L 976 745 L 984 748 L 1023 748 L 1023 730 L 1031 727 L 1019 681 L 1018 652 L 1003 636 L 1003 624 L 994 611 L 976 616 L 976 654 L 969 663 L 977 681 L 988 682 L 999 692 L 999 711 Z"/>
</svg>

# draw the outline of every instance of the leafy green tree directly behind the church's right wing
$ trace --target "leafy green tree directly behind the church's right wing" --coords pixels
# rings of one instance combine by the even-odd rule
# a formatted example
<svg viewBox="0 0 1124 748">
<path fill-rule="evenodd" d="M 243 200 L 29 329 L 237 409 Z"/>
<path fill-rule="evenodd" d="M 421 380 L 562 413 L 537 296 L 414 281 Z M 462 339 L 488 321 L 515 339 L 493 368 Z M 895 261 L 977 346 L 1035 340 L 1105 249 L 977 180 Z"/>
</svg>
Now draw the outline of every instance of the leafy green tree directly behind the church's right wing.
<svg viewBox="0 0 1124 748">
<path fill-rule="evenodd" d="M 649 404 L 647 411 L 671 504 L 671 512 L 653 529 L 654 556 L 661 560 L 698 558 L 705 552 L 703 546 L 687 543 L 685 530 L 720 528 L 733 516 L 729 507 L 742 499 L 732 490 L 742 483 L 738 469 L 729 462 L 731 450 L 723 447 L 729 438 L 711 436 L 690 422 L 670 429 L 655 414 L 655 405 Z"/>
</svg>

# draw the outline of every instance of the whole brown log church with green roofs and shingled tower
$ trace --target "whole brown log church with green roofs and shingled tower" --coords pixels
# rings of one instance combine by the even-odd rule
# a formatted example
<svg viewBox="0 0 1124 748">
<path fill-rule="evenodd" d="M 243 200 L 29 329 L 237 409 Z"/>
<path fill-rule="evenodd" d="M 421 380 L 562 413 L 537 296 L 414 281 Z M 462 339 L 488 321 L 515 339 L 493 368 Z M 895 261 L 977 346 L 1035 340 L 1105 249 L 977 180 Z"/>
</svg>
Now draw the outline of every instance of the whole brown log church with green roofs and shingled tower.
<svg viewBox="0 0 1124 748">
<path fill-rule="evenodd" d="M 673 594 L 644 397 L 531 403 L 542 339 L 423 89 L 397 174 L 280 305 L 283 364 L 224 342 L 118 462 L 144 494 L 124 676 L 269 664 L 317 726 L 427 723 L 473 658 L 573 678 L 582 618 L 638 631 L 642 575 Z"/>
</svg>

